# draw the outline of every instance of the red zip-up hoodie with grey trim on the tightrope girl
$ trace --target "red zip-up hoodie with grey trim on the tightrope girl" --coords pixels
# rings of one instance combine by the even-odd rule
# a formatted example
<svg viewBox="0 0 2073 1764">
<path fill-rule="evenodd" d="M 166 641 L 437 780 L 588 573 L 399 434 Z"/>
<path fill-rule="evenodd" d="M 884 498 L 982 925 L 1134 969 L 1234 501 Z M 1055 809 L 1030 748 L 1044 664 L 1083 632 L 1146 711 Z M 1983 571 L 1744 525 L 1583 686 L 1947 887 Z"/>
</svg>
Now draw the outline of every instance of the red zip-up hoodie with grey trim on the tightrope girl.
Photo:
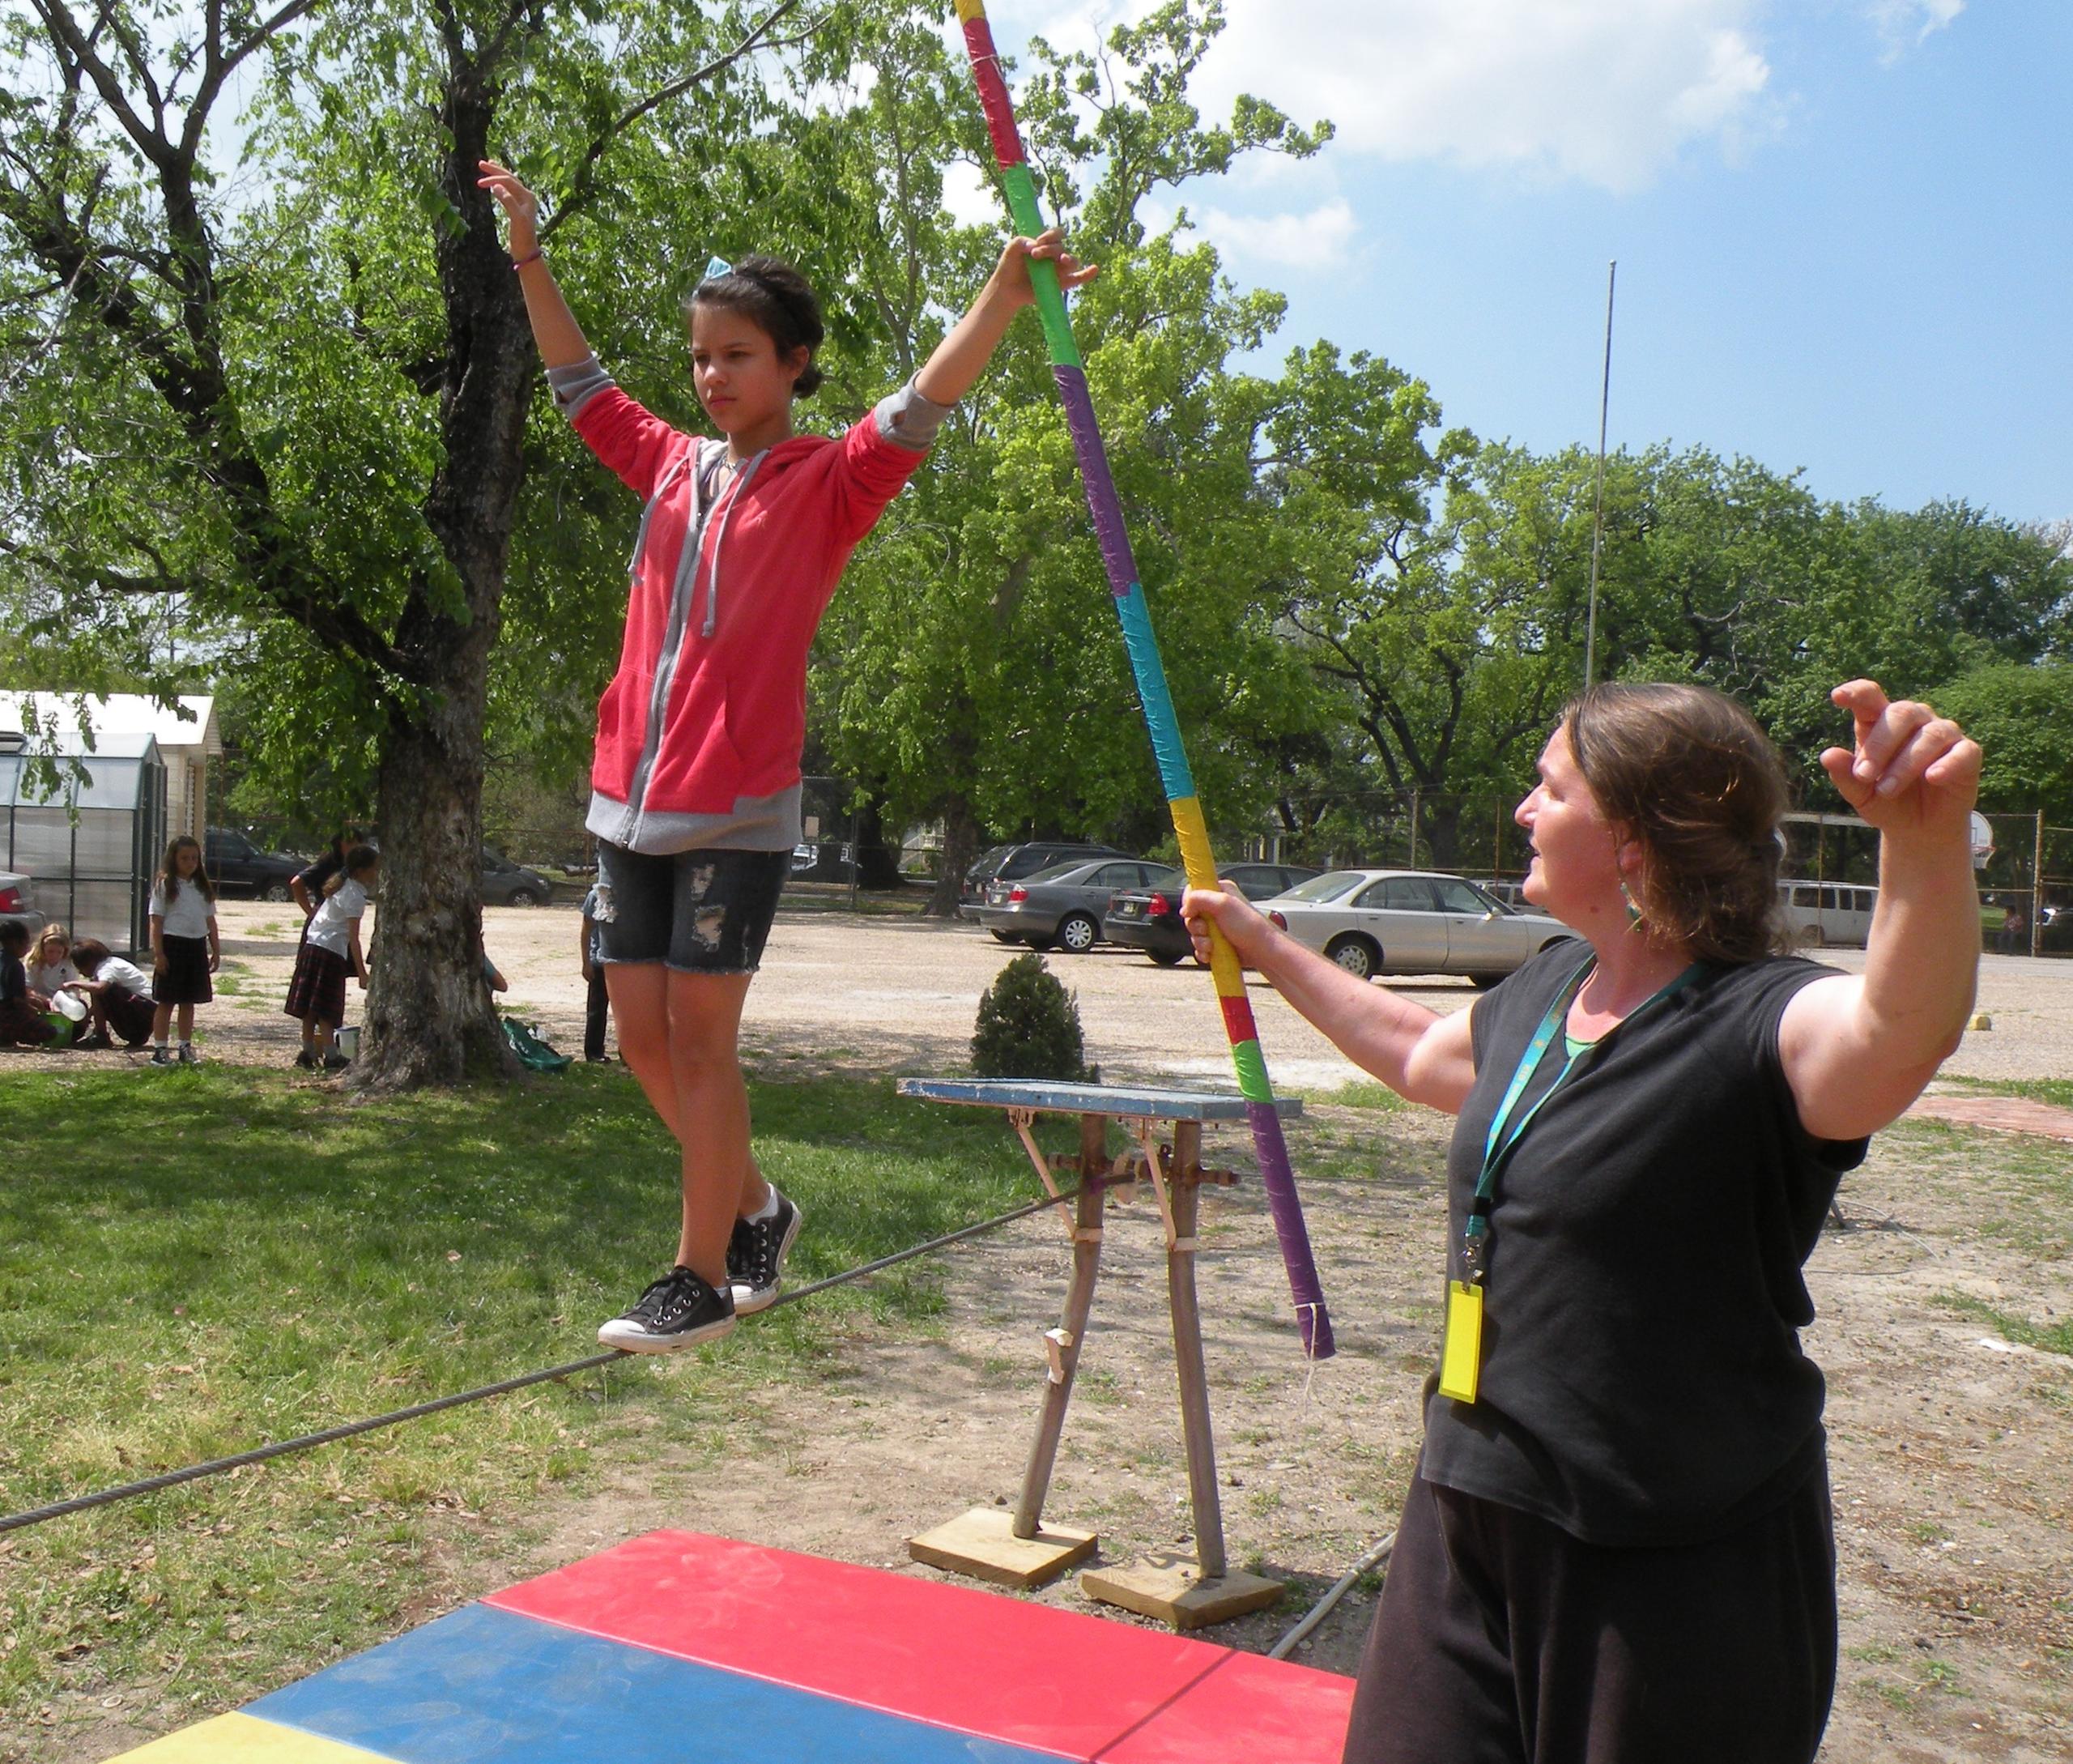
<svg viewBox="0 0 2073 1764">
<path fill-rule="evenodd" d="M 790 850 L 815 628 L 943 406 L 908 388 L 842 439 L 794 435 L 726 479 L 723 442 L 672 429 L 595 363 L 549 381 L 645 504 L 620 667 L 597 707 L 591 831 L 643 852 Z"/>
</svg>

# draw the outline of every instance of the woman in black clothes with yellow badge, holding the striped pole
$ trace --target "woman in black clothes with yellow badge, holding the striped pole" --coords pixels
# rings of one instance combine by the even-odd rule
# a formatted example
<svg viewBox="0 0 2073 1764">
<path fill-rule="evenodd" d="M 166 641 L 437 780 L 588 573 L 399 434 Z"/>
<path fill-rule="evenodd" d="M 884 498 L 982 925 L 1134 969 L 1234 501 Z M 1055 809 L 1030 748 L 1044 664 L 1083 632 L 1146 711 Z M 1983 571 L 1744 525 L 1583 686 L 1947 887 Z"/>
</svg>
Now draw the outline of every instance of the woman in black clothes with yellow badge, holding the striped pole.
<svg viewBox="0 0 2073 1764">
<path fill-rule="evenodd" d="M 1352 1059 L 1459 1117 L 1441 1368 L 1347 1764 L 1820 1745 L 1835 1534 L 1801 1264 L 1868 1136 L 1957 1047 L 1980 962 L 1980 748 L 1870 680 L 1835 703 L 1853 742 L 1822 767 L 1880 833 L 1862 974 L 1774 954 L 1785 773 L 1698 686 L 1563 713 L 1517 823 L 1526 898 L 1582 941 L 1472 1009 L 1186 895 L 1198 939 L 1217 924 Z"/>
</svg>

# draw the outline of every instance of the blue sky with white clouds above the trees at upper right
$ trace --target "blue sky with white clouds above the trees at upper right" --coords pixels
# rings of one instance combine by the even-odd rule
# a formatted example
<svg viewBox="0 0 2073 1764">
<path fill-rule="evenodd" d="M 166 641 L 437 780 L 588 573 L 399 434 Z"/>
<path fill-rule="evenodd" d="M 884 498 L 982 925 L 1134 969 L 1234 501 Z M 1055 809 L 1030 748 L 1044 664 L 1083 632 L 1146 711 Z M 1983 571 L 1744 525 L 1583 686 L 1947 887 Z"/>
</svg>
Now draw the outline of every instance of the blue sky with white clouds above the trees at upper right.
<svg viewBox="0 0 2073 1764">
<path fill-rule="evenodd" d="M 993 0 L 1090 46 L 1142 0 Z M 1238 89 L 1339 139 L 1186 191 L 1233 280 L 1449 423 L 2073 516 L 2069 0 L 1227 0 Z M 976 195 L 976 193 L 974 193 Z"/>
</svg>

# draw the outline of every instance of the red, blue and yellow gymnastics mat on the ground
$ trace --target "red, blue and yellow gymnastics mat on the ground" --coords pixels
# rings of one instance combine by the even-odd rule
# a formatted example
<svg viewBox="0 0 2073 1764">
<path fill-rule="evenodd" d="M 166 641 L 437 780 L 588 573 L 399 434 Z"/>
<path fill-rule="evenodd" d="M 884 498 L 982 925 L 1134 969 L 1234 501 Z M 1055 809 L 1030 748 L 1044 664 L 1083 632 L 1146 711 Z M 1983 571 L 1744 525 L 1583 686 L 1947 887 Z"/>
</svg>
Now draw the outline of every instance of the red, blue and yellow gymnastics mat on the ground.
<svg viewBox="0 0 2073 1764">
<path fill-rule="evenodd" d="M 1337 1764 L 1354 1681 L 995 1592 L 649 1532 L 137 1764 Z"/>
</svg>

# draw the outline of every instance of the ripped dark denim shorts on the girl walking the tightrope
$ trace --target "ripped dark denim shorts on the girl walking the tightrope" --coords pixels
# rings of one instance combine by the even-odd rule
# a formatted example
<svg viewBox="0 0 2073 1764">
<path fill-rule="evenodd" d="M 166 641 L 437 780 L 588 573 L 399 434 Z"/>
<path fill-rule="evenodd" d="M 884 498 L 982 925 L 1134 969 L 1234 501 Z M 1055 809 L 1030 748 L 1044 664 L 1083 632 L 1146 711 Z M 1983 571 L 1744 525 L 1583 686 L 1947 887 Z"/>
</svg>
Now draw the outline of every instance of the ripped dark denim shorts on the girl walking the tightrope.
<svg viewBox="0 0 2073 1764">
<path fill-rule="evenodd" d="M 790 852 L 676 852 L 597 844 L 597 954 L 682 974 L 752 974 L 792 871 Z"/>
</svg>

